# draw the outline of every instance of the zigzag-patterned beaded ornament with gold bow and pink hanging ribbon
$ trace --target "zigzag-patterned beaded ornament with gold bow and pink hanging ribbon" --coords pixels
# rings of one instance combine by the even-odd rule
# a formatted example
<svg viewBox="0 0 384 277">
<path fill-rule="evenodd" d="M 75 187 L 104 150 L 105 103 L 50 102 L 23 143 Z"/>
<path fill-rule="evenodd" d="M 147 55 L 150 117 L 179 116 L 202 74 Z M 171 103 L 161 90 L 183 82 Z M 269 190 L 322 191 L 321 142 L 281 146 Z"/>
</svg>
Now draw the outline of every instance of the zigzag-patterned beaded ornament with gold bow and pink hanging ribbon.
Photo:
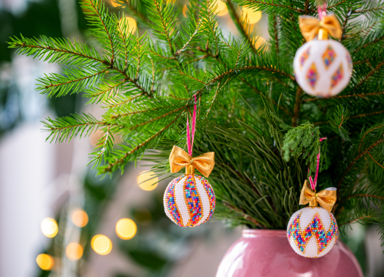
<svg viewBox="0 0 384 277">
<path fill-rule="evenodd" d="M 321 138 L 320 141 L 324 139 Z M 327 188 L 316 193 L 319 174 L 320 149 L 315 179 L 304 182 L 300 205 L 309 203 L 292 214 L 288 221 L 287 238 L 292 249 L 300 256 L 319 258 L 327 254 L 337 241 L 338 227 L 331 210 L 336 202 L 336 189 Z M 320 207 L 318 207 L 320 204 Z"/>
</svg>

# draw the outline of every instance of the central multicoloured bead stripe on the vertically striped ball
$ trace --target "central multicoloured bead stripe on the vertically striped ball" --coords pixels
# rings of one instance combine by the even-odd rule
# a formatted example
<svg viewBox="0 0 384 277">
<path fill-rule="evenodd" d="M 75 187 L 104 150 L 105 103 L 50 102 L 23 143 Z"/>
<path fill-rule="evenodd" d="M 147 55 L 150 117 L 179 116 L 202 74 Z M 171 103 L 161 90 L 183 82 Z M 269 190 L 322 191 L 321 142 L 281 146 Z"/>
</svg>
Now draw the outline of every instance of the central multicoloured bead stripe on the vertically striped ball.
<svg viewBox="0 0 384 277">
<path fill-rule="evenodd" d="M 187 179 L 184 182 L 185 199 L 190 214 L 190 220 L 187 226 L 195 226 L 201 219 L 201 200 L 198 195 L 195 180 L 193 175 L 187 175 Z"/>
</svg>

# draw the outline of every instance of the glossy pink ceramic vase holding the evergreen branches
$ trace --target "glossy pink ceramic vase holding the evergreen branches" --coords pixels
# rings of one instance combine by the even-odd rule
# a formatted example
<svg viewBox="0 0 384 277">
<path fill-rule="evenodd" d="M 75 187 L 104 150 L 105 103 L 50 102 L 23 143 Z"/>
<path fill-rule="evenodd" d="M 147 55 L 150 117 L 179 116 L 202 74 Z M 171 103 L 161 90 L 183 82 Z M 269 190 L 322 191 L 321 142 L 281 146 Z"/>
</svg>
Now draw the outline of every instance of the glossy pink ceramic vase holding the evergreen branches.
<svg viewBox="0 0 384 277">
<path fill-rule="evenodd" d="M 224 255 L 216 277 L 364 277 L 352 252 L 340 241 L 323 257 L 295 253 L 285 230 L 243 230 Z"/>
</svg>

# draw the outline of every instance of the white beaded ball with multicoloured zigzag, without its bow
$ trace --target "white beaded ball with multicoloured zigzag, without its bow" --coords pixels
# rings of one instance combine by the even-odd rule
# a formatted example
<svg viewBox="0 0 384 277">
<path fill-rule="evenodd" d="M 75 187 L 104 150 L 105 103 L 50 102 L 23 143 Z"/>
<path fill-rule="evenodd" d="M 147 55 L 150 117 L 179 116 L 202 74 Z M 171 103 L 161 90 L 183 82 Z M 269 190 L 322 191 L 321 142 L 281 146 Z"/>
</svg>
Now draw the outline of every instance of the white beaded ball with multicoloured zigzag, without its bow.
<svg viewBox="0 0 384 277">
<path fill-rule="evenodd" d="M 306 207 L 292 214 L 287 226 L 289 244 L 297 254 L 319 258 L 336 243 L 338 227 L 333 214 L 324 208 Z"/>
</svg>

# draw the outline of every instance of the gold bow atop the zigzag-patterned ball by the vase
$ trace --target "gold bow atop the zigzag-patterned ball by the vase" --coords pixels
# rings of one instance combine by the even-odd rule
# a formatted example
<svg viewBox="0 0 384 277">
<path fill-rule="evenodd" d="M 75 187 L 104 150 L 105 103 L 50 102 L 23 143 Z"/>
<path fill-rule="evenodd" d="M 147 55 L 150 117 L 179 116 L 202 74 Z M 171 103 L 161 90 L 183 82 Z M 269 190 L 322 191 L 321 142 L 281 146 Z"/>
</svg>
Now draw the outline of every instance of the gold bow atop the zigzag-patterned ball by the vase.
<svg viewBox="0 0 384 277">
<path fill-rule="evenodd" d="M 322 208 L 325 208 L 327 211 L 331 211 L 333 206 L 336 203 L 336 189 L 327 188 L 323 191 L 316 193 L 307 180 L 304 182 L 303 189 L 301 190 L 300 195 L 300 205 L 310 204 L 310 206 L 318 206 L 318 203 Z"/>
</svg>

